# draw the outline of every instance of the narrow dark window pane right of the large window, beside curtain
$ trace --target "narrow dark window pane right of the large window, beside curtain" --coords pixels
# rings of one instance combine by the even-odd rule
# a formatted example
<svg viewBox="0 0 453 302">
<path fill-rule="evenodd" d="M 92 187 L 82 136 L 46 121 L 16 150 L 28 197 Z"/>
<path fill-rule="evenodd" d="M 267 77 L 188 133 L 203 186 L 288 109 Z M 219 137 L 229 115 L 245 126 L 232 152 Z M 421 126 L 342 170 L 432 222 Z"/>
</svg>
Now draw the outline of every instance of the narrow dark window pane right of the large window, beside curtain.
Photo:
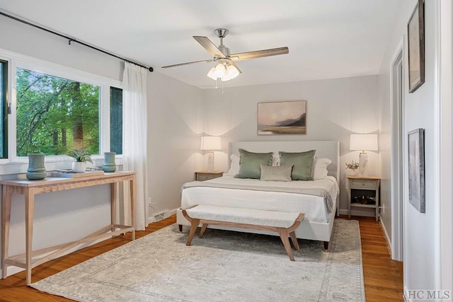
<svg viewBox="0 0 453 302">
<path fill-rule="evenodd" d="M 122 154 L 122 89 L 110 87 L 110 151 Z"/>
</svg>

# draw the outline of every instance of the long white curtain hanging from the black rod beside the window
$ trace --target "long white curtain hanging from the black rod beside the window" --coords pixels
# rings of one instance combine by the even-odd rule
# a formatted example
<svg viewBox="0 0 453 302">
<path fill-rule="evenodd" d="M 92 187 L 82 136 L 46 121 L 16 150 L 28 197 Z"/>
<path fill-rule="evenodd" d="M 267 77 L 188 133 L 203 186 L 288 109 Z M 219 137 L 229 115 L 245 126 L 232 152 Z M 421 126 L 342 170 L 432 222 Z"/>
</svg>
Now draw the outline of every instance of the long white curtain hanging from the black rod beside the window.
<svg viewBox="0 0 453 302">
<path fill-rule="evenodd" d="M 123 170 L 137 173 L 135 228 L 143 231 L 148 225 L 147 182 L 147 69 L 125 62 L 122 76 L 122 155 Z M 124 206 L 120 216 L 130 223 L 130 190 L 124 186 Z"/>
</svg>

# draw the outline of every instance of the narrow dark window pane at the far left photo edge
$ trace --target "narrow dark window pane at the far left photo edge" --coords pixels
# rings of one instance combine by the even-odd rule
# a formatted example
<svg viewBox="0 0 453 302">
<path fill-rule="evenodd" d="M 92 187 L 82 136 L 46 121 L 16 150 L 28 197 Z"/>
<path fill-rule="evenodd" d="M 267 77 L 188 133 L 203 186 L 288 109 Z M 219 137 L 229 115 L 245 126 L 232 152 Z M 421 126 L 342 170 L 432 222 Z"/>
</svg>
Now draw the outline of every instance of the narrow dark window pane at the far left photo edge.
<svg viewBox="0 0 453 302">
<path fill-rule="evenodd" d="M 8 157 L 8 63 L 0 60 L 0 158 Z"/>
</svg>

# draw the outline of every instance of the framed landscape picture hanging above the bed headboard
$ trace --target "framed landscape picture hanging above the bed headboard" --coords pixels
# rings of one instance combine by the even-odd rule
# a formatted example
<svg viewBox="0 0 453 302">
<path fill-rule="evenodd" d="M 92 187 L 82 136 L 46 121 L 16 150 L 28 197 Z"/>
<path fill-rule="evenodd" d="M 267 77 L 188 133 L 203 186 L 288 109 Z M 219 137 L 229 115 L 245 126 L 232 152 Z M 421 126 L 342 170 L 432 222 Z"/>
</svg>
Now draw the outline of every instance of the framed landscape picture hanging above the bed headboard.
<svg viewBox="0 0 453 302">
<path fill-rule="evenodd" d="M 258 135 L 306 134 L 306 100 L 258 103 Z"/>
</svg>

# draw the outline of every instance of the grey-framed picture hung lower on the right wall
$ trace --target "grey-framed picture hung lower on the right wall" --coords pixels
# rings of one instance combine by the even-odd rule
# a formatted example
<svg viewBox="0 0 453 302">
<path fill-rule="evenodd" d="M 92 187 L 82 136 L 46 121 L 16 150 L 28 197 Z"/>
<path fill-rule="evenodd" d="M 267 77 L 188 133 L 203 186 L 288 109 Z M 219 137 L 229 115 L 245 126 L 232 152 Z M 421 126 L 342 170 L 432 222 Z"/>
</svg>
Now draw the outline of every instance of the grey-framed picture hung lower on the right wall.
<svg viewBox="0 0 453 302">
<path fill-rule="evenodd" d="M 409 202 L 425 213 L 425 129 L 408 132 Z"/>
</svg>

